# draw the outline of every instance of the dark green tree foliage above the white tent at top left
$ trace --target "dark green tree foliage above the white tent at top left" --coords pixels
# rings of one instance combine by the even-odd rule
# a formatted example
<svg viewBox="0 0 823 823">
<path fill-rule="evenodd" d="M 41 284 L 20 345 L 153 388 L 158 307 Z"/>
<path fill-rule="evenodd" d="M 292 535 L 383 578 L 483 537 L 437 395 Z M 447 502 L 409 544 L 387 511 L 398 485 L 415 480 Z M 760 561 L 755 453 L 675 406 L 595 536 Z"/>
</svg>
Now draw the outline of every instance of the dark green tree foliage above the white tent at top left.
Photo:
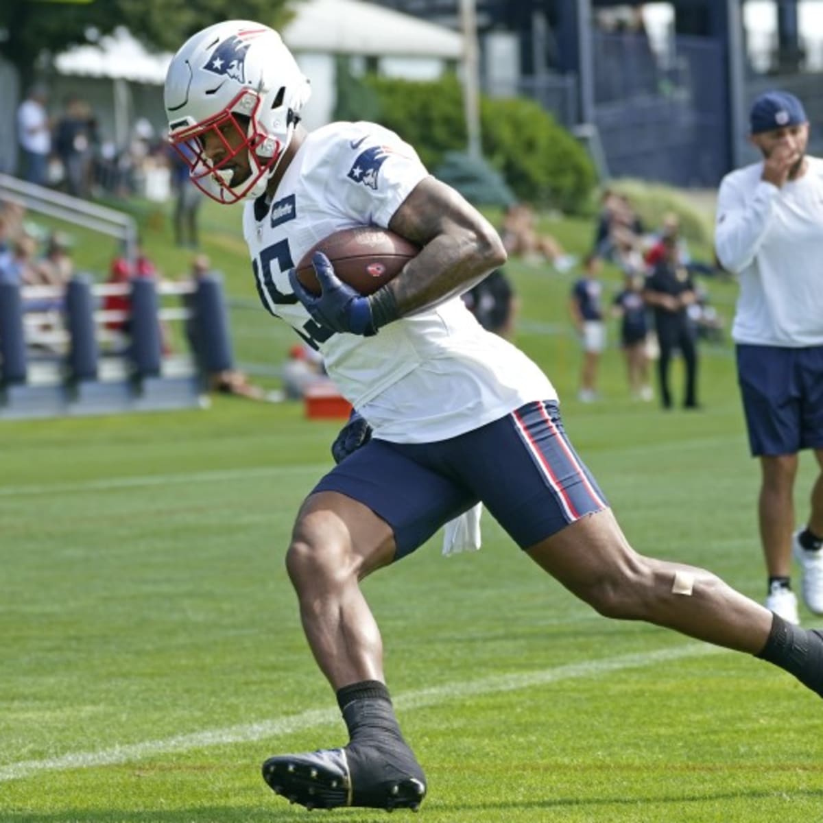
<svg viewBox="0 0 823 823">
<path fill-rule="evenodd" d="M 69 46 L 126 26 L 149 49 L 175 51 L 195 31 L 223 20 L 278 28 L 300 0 L 2 0 L 0 53 L 29 85 L 39 63 Z M 291 8 L 290 8 L 291 7 Z"/>
</svg>

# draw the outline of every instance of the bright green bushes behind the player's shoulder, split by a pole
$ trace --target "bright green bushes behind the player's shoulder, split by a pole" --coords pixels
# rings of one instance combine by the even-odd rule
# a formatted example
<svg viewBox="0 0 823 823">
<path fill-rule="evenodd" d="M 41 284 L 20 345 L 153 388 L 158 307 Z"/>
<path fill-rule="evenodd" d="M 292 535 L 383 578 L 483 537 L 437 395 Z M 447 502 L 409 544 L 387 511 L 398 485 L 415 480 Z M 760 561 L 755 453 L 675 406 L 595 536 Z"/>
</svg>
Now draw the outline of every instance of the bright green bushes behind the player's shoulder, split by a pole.
<svg viewBox="0 0 823 823">
<path fill-rule="evenodd" d="M 355 79 L 344 72 L 338 82 L 339 119 L 364 119 L 362 111 L 348 105 L 371 100 L 352 89 L 357 84 L 375 95 L 374 119 L 415 146 L 429 169 L 444 163 L 449 152 L 465 151 L 463 91 L 453 74 L 420 82 L 374 75 Z M 481 139 L 486 160 L 518 199 L 571 213 L 587 207 L 595 181 L 593 165 L 583 146 L 537 103 L 483 97 Z"/>
</svg>

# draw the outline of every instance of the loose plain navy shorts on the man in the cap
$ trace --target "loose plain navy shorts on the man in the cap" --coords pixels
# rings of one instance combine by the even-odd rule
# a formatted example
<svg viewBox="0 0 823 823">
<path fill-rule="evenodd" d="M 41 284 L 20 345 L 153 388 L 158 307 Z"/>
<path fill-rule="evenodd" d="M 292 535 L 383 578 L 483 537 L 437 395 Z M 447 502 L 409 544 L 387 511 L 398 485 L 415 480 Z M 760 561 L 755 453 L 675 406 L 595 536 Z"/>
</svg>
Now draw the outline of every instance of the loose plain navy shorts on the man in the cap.
<svg viewBox="0 0 823 823">
<path fill-rule="evenodd" d="M 737 378 L 755 456 L 823 449 L 823 346 L 737 346 Z"/>
</svg>

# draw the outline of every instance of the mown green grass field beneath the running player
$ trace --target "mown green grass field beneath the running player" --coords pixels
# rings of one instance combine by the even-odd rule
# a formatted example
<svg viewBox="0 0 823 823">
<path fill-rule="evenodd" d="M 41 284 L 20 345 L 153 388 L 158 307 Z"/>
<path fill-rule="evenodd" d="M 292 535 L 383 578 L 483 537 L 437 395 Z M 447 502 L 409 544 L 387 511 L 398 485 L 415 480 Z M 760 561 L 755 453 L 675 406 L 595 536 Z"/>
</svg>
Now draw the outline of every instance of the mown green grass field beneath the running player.
<svg viewBox="0 0 823 823">
<path fill-rule="evenodd" d="M 161 236 L 147 239 L 160 253 Z M 235 258 L 221 263 L 230 283 L 248 277 Z M 570 276 L 512 272 L 518 342 L 569 398 L 566 427 L 631 542 L 759 599 L 757 468 L 728 346 L 704 347 L 703 412 L 631 402 L 613 349 L 606 399 L 581 406 Z M 714 287 L 718 305 L 733 294 Z M 314 819 L 275 797 L 259 766 L 345 742 L 282 562 L 336 431 L 299 404 L 234 398 L 2 422 L 2 823 Z M 800 517 L 812 476 L 807 455 Z M 479 553 L 450 558 L 435 539 L 365 582 L 430 783 L 421 820 L 823 820 L 811 692 L 753 658 L 607 621 L 490 518 L 483 537 Z"/>
</svg>

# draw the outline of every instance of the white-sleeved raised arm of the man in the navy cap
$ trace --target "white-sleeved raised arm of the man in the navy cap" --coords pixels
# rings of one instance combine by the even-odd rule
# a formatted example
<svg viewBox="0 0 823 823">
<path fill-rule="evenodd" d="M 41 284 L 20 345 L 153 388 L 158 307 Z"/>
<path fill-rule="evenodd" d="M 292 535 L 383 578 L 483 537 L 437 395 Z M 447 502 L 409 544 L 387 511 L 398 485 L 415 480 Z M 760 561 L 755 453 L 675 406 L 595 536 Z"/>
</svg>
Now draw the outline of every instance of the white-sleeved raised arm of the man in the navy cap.
<svg viewBox="0 0 823 823">
<path fill-rule="evenodd" d="M 737 181 L 728 178 L 720 184 L 714 250 L 728 272 L 742 272 L 755 258 L 774 209 L 779 188 L 761 180 L 749 197 Z"/>
</svg>

